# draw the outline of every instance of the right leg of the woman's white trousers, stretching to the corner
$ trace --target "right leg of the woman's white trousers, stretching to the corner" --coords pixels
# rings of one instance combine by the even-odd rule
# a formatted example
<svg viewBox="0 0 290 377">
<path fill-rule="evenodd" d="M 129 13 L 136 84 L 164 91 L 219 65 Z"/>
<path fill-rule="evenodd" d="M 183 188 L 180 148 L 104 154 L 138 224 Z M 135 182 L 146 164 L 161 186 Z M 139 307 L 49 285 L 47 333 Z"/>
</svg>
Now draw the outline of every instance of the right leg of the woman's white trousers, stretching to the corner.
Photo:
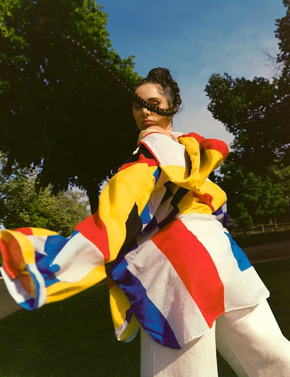
<svg viewBox="0 0 290 377">
<path fill-rule="evenodd" d="M 221 315 L 216 320 L 216 346 L 237 376 L 290 376 L 290 342 L 266 300 Z"/>
</svg>

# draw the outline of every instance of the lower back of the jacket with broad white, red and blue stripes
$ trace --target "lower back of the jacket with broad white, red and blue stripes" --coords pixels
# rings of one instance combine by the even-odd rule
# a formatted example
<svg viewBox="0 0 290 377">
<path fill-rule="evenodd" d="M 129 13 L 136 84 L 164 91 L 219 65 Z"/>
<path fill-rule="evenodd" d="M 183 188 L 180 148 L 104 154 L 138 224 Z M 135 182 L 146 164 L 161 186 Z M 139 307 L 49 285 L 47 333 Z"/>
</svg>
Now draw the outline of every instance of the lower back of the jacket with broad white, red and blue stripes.
<svg viewBox="0 0 290 377">
<path fill-rule="evenodd" d="M 170 227 L 137 242 L 138 248 L 124 256 L 130 273 L 125 281 L 136 284 L 134 290 L 128 284 L 135 317 L 164 346 L 183 347 L 225 311 L 254 306 L 269 296 L 214 215 L 177 215 Z M 176 342 L 170 343 L 173 337 Z"/>
</svg>

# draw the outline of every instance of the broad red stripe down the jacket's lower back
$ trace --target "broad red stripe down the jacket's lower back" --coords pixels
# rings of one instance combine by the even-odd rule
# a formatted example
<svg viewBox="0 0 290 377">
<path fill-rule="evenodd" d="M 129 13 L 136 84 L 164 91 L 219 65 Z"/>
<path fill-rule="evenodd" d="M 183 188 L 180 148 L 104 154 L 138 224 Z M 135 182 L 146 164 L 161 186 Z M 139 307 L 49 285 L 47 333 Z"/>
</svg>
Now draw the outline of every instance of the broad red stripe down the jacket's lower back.
<svg viewBox="0 0 290 377">
<path fill-rule="evenodd" d="M 200 308 L 209 327 L 224 313 L 223 282 L 205 246 L 174 220 L 153 236 L 153 243 L 163 252 Z"/>
</svg>

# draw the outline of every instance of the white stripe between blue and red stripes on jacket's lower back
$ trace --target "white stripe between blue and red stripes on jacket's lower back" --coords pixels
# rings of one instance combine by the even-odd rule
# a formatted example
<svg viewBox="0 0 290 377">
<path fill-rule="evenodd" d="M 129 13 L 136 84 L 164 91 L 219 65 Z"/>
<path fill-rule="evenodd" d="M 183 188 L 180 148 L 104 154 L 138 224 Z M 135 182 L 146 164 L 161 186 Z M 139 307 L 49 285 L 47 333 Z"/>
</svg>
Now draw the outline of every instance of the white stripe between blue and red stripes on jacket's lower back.
<svg viewBox="0 0 290 377">
<path fill-rule="evenodd" d="M 167 257 L 158 250 L 151 240 L 144 243 L 139 250 L 145 252 L 139 252 L 127 269 L 134 276 L 138 276 L 149 299 L 156 303 L 160 313 L 166 318 L 170 327 L 174 329 L 179 344 L 184 345 L 188 342 L 188 339 L 191 341 L 193 335 L 196 339 L 205 334 L 209 326 L 200 312 L 200 308 L 186 290 L 186 286 L 178 278 L 172 264 L 168 263 Z M 136 250 L 133 250 L 130 254 L 134 252 Z M 146 266 L 146 269 L 144 269 L 144 266 Z M 163 290 L 158 289 L 158 287 L 166 288 Z M 174 303 L 174 306 L 172 303 Z M 178 315 L 174 308 L 179 308 Z"/>
</svg>

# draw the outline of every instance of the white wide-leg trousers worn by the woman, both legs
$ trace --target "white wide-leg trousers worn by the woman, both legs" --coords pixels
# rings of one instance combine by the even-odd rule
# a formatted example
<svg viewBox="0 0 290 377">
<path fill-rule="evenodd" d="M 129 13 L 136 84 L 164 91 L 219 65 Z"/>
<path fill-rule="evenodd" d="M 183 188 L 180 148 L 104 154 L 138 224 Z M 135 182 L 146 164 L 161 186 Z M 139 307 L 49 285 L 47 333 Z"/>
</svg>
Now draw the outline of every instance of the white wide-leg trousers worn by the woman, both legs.
<svg viewBox="0 0 290 377">
<path fill-rule="evenodd" d="M 240 377 L 290 377 L 290 342 L 263 301 L 221 315 L 181 350 L 160 346 L 141 331 L 141 377 L 216 377 L 216 348 Z"/>
</svg>

